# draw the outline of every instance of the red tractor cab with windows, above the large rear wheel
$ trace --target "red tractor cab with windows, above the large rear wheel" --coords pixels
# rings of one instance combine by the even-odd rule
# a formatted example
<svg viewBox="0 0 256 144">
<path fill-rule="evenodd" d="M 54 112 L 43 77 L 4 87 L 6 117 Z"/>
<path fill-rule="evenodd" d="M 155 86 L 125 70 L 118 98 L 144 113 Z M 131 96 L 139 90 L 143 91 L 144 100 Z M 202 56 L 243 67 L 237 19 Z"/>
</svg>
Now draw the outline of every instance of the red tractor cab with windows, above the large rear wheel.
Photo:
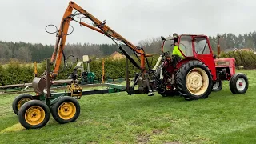
<svg viewBox="0 0 256 144">
<path fill-rule="evenodd" d="M 182 54 L 180 58 L 177 55 L 173 55 L 175 42 L 177 42 L 178 50 Z M 216 79 L 214 54 L 206 35 L 173 34 L 173 36 L 167 38 L 162 37 L 162 52 L 169 54 L 170 58 L 173 58 L 173 65 L 177 69 L 191 60 L 203 62 L 210 68 L 214 75 L 213 79 Z"/>
</svg>

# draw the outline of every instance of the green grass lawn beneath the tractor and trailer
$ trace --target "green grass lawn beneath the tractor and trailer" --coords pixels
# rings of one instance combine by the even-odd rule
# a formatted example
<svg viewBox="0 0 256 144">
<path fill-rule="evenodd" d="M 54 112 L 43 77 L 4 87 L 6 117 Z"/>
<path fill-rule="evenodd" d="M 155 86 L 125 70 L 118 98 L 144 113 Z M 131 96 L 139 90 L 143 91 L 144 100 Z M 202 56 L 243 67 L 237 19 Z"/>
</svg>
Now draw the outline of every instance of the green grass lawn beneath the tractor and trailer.
<svg viewBox="0 0 256 144">
<path fill-rule="evenodd" d="M 255 143 L 256 71 L 242 72 L 250 82 L 246 94 L 231 94 L 224 82 L 222 91 L 192 102 L 159 94 L 90 95 L 79 100 L 76 122 L 50 118 L 37 130 L 8 132 L 18 123 L 11 109 L 16 95 L 0 95 L 0 143 Z"/>
</svg>

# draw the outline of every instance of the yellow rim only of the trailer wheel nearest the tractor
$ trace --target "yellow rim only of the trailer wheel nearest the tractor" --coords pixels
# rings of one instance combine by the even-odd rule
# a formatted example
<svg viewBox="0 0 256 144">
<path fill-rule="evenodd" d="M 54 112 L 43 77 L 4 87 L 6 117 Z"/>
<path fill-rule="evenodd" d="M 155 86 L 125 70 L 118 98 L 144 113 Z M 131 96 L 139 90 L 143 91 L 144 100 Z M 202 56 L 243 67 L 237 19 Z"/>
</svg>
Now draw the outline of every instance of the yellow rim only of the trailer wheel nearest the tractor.
<svg viewBox="0 0 256 144">
<path fill-rule="evenodd" d="M 76 110 L 73 102 L 63 102 L 62 105 L 58 107 L 58 115 L 60 118 L 68 120 L 74 117 Z"/>
</svg>

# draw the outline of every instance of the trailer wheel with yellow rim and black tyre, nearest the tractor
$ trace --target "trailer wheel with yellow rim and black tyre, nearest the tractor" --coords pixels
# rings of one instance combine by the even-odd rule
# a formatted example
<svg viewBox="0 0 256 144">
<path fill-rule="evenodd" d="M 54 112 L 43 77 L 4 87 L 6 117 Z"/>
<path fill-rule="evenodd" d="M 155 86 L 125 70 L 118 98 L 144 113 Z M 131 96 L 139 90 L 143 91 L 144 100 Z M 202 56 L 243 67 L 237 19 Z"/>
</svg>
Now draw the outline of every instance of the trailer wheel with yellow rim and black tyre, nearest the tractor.
<svg viewBox="0 0 256 144">
<path fill-rule="evenodd" d="M 74 122 L 80 114 L 80 105 L 76 99 L 65 96 L 54 103 L 51 113 L 58 123 Z"/>
</svg>

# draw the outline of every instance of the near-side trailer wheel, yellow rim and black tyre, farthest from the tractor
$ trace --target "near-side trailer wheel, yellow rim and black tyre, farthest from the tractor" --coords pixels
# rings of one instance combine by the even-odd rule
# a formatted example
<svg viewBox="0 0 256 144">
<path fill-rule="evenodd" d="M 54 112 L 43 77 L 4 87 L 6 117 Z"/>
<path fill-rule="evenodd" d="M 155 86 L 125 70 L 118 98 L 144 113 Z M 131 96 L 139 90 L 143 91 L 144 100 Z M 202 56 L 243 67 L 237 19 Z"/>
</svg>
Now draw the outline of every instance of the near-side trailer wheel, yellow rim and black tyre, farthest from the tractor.
<svg viewBox="0 0 256 144">
<path fill-rule="evenodd" d="M 18 111 L 18 120 L 26 129 L 37 129 L 45 126 L 49 119 L 49 107 L 39 100 L 26 102 Z"/>
</svg>

